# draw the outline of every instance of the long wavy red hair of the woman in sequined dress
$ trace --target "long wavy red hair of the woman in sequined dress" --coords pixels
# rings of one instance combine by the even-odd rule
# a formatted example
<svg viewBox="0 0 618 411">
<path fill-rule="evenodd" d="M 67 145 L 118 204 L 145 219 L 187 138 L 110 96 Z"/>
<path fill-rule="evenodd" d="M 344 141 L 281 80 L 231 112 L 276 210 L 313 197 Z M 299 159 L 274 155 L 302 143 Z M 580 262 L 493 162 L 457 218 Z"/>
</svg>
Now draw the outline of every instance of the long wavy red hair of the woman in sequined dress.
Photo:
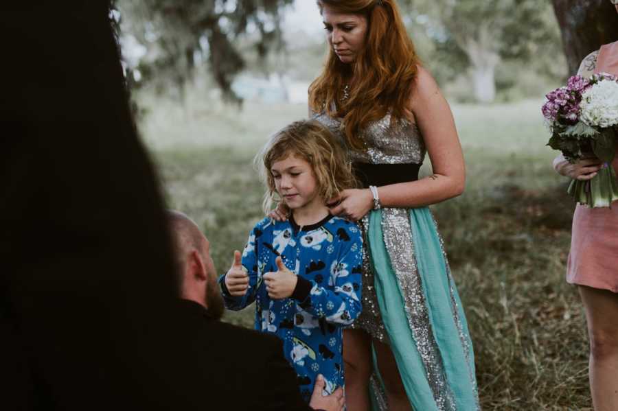
<svg viewBox="0 0 618 411">
<path fill-rule="evenodd" d="M 327 5 L 336 12 L 367 18 L 365 47 L 356 61 L 345 64 L 329 47 L 324 69 L 309 86 L 309 107 L 343 117 L 347 145 L 363 150 L 359 136 L 371 121 L 389 111 L 404 118 L 420 64 L 395 0 L 318 0 L 320 12 Z M 349 83 L 354 79 L 354 83 Z M 341 100 L 349 84 L 349 97 Z"/>
</svg>

